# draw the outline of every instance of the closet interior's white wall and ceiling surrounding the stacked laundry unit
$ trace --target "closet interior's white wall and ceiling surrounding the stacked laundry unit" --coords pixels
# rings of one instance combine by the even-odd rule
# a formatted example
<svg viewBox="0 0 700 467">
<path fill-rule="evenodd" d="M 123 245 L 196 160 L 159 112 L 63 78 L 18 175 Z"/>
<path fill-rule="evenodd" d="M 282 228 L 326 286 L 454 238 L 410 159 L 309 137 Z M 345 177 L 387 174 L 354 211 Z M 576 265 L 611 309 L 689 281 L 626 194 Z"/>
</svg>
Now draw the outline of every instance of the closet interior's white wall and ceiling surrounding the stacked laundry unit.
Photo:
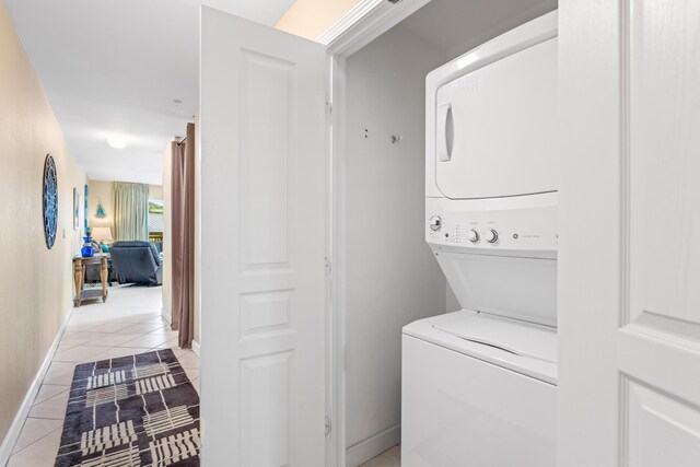
<svg viewBox="0 0 700 467">
<path fill-rule="evenodd" d="M 400 443 L 402 327 L 460 308 L 425 243 L 425 77 L 556 9 L 553 0 L 432 0 L 341 59 L 334 430 L 348 467 Z"/>
</svg>

